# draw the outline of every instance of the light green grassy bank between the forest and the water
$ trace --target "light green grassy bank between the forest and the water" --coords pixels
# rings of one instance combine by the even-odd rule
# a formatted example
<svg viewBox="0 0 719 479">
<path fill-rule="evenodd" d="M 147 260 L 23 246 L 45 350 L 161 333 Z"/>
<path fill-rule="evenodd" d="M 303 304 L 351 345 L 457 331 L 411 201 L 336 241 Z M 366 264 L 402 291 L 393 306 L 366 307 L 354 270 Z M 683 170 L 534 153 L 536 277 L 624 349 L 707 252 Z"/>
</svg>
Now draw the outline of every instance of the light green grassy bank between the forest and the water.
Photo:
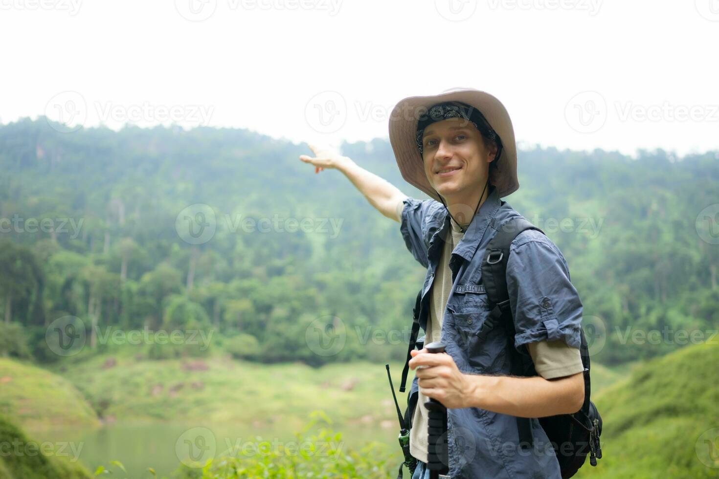
<svg viewBox="0 0 719 479">
<path fill-rule="evenodd" d="M 183 361 L 137 361 L 115 356 L 103 369 L 101 355 L 68 366 L 64 375 L 104 417 L 124 422 L 243 422 L 264 426 L 301 427 L 314 409 L 339 424 L 391 422 L 396 413 L 385 368 L 381 364 L 331 364 L 315 369 L 296 364 L 260 365 L 221 358 L 205 359 L 207 371 L 184 371 Z M 401 364 L 390 365 L 395 390 Z M 410 371 L 409 381 L 413 378 Z M 592 382 L 600 389 L 617 381 L 618 373 L 592 366 Z M 352 391 L 342 386 L 356 381 Z M 154 394 L 154 395 L 153 395 Z M 399 394 L 403 406 L 406 394 Z"/>
</svg>

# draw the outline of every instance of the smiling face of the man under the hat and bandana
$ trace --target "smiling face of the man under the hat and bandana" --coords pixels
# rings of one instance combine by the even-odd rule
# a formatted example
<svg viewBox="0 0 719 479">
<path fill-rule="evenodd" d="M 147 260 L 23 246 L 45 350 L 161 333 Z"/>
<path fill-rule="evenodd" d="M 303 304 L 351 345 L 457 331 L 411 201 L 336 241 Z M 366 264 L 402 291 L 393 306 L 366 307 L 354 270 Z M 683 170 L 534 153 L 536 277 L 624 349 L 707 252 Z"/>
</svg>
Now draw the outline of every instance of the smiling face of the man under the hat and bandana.
<svg viewBox="0 0 719 479">
<path fill-rule="evenodd" d="M 430 185 L 448 203 L 465 202 L 482 192 L 493 151 L 485 148 L 482 134 L 464 118 L 447 118 L 424 131 L 422 159 Z"/>
</svg>

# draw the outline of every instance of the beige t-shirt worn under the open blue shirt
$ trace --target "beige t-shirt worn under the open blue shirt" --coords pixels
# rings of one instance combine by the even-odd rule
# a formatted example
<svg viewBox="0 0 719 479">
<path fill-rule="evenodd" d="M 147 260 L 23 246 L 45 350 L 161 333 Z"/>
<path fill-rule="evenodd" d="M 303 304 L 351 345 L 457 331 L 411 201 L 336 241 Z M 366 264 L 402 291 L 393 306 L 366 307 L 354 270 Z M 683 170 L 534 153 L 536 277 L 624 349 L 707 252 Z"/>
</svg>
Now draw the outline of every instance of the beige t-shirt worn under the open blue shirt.
<svg viewBox="0 0 719 479">
<path fill-rule="evenodd" d="M 459 230 L 459 225 L 454 223 L 454 220 L 450 220 L 450 224 L 452 224 L 452 239 L 450 240 L 449 235 L 447 235 L 444 248 L 439 257 L 439 265 L 437 266 L 437 271 L 435 271 L 429 297 L 429 320 L 427 321 L 424 344 L 440 340 L 442 315 L 444 315 L 449 292 L 452 289 L 452 270 L 449 269 L 452 244 L 456 248 L 459 241 L 462 241 L 462 236 L 464 236 L 464 233 Z M 468 224 L 462 226 L 466 227 Z M 534 367 L 543 378 L 561 378 L 584 371 L 580 350 L 572 348 L 562 340 L 528 343 L 527 346 L 534 362 Z M 420 389 L 409 434 L 410 454 L 422 462 L 427 462 L 427 418 L 429 415 L 424 406 L 426 400 L 427 397 L 422 394 Z"/>
</svg>

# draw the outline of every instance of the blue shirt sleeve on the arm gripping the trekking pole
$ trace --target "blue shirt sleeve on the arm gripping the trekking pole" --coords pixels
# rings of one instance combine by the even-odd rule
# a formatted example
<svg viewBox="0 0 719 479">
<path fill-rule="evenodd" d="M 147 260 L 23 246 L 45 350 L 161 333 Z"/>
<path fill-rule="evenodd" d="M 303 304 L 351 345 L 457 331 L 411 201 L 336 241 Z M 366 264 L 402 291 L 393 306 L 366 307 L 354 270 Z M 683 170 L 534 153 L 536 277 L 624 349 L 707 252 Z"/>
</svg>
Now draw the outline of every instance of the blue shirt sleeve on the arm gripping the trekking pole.
<svg viewBox="0 0 719 479">
<path fill-rule="evenodd" d="M 514 317 L 514 346 L 563 340 L 580 348 L 582 302 L 569 267 L 554 243 L 537 231 L 520 233 L 507 261 L 507 289 Z"/>
</svg>

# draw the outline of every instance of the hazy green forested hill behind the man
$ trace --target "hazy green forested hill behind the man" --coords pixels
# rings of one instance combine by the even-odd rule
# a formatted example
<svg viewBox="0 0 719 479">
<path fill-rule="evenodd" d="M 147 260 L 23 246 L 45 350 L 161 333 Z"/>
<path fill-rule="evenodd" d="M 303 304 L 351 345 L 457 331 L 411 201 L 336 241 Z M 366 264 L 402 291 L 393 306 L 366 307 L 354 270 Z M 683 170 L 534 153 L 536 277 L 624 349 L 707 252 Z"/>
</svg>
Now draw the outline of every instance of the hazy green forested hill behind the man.
<svg viewBox="0 0 719 479">
<path fill-rule="evenodd" d="M 343 152 L 424 197 L 401 179 L 388 141 Z M 339 172 L 315 175 L 298 160 L 308 153 L 239 129 L 0 126 L 0 315 L 12 338 L 0 349 L 50 361 L 45 328 L 73 315 L 88 336 L 91 325 L 214 327 L 212 348 L 258 361 L 402 358 L 401 341 L 371 333 L 408 332 L 423 269 L 398 223 Z M 682 345 L 678 330 L 709 339 L 718 153 L 533 149 L 518 164 L 521 187 L 505 200 L 567 258 L 598 361 L 666 353 Z M 318 318 L 336 327 L 331 316 L 346 344 L 313 353 L 306 331 Z M 669 340 L 633 340 L 637 330 L 669 330 Z"/>
</svg>

